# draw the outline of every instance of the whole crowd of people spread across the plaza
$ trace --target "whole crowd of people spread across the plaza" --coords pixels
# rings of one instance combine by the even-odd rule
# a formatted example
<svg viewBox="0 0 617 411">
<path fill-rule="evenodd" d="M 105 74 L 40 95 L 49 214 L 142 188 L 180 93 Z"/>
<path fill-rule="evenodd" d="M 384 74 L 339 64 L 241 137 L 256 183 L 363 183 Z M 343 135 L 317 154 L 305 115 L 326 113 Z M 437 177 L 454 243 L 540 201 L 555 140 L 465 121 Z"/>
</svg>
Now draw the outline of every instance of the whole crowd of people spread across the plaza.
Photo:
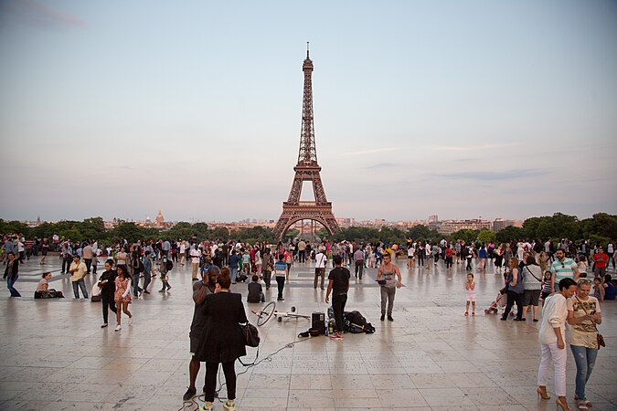
<svg viewBox="0 0 617 411">
<path fill-rule="evenodd" d="M 246 354 L 239 324 L 246 322 L 246 313 L 239 294 L 230 292 L 232 284 L 248 282 L 249 302 L 265 301 L 261 282 L 266 290 L 271 288 L 272 277 L 277 285 L 277 300 L 284 300 L 284 287 L 296 263 L 314 262 L 314 289 L 324 290 L 325 271 L 330 270 L 325 293 L 335 315 L 333 340 L 343 340 L 343 311 L 349 290 L 351 271 L 356 281 L 361 282 L 366 268 L 377 269 L 377 282 L 381 295 L 381 321 L 394 321 L 392 312 L 396 290 L 401 287 L 402 276 L 394 258 L 407 254 L 408 268 L 416 261 L 420 269 L 431 273 L 431 267 L 443 264 L 452 269 L 455 264 L 464 265 L 467 272 L 464 290 L 466 295 L 465 315 L 475 315 L 476 283 L 474 271 L 484 273 L 490 266 L 495 273 L 503 275 L 504 287 L 499 290 L 506 296 L 501 320 L 506 321 L 516 306 L 515 321 L 540 323 L 541 362 L 537 374 L 537 394 L 548 399 L 546 382 L 548 365 L 555 369 L 555 393 L 557 406 L 568 409 L 565 396 L 566 346 L 565 323 L 572 326 L 569 337 L 570 350 L 577 366 L 576 401 L 580 409 L 588 409 L 590 402 L 585 395 L 599 349 L 597 324 L 601 323 L 602 300 L 614 300 L 615 280 L 606 274 L 607 267 L 615 266 L 614 244 L 590 247 L 587 242 L 574 244 L 564 239 L 554 247 L 548 240 L 529 241 L 521 239 L 505 244 L 480 241 L 465 243 L 463 240 L 449 242 L 413 241 L 405 246 L 385 243 L 359 243 L 356 241 L 330 242 L 324 240 L 311 244 L 303 241 L 276 245 L 258 242 L 249 244 L 240 241 L 205 240 L 197 237 L 188 240 L 146 240 L 129 243 L 120 240 L 101 246 L 95 239 L 73 242 L 59 237 L 49 242 L 46 238 L 27 240 L 20 236 L 4 238 L 3 263 L 5 279 L 12 297 L 19 297 L 15 289 L 18 267 L 24 259 L 41 254 L 40 265 L 45 265 L 49 249 L 57 250 L 62 261 L 62 274 L 69 274 L 74 297 L 88 299 L 84 279 L 97 276 L 99 258 L 104 258 L 96 289 L 101 296 L 101 328 L 108 326 L 109 311 L 116 315 L 115 331 L 122 330 L 122 313 L 132 324 L 129 311 L 133 300 L 150 293 L 155 271 L 160 274 L 160 292 L 171 290 L 168 273 L 175 265 L 190 264 L 193 280 L 194 318 L 190 328 L 189 364 L 190 384 L 185 400 L 197 393 L 195 380 L 200 363 L 206 363 L 206 409 L 211 409 L 216 388 L 216 375 L 222 364 L 228 387 L 225 407 L 234 409 L 235 370 L 234 363 Z M 606 250 L 606 251 L 605 251 Z M 475 267 L 473 265 L 475 264 Z M 347 269 L 347 267 L 349 269 Z M 592 279 L 588 279 L 588 273 Z M 35 298 L 61 298 L 61 291 L 50 290 L 46 272 L 37 285 Z M 142 282 L 143 279 L 143 282 Z M 543 315 L 539 318 L 540 304 Z M 226 330 L 225 332 L 219 332 Z"/>
</svg>

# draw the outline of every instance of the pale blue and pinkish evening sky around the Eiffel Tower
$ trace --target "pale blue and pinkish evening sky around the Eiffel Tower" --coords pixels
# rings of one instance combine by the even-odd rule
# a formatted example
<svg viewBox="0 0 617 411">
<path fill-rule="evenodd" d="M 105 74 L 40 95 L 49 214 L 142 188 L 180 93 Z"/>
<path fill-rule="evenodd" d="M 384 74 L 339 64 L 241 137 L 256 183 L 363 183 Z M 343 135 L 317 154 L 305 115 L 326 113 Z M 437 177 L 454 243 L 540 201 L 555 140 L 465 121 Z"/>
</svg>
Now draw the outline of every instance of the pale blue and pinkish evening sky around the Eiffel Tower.
<svg viewBox="0 0 617 411">
<path fill-rule="evenodd" d="M 617 214 L 617 2 L 0 2 L 0 218 Z M 306 191 L 303 198 L 306 197 Z"/>
</svg>

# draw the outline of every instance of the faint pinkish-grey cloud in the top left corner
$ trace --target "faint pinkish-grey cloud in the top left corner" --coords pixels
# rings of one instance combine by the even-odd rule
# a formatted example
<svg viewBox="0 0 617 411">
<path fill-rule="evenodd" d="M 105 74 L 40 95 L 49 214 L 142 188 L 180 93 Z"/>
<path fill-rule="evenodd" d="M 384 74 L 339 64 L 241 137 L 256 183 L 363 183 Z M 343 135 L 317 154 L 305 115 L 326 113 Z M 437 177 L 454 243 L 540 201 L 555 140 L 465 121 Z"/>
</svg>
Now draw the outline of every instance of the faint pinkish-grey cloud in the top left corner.
<svg viewBox="0 0 617 411">
<path fill-rule="evenodd" d="M 69 15 L 34 0 L 9 0 L 0 2 L 1 22 L 14 22 L 37 28 L 60 30 L 88 26 L 78 16 Z"/>
</svg>

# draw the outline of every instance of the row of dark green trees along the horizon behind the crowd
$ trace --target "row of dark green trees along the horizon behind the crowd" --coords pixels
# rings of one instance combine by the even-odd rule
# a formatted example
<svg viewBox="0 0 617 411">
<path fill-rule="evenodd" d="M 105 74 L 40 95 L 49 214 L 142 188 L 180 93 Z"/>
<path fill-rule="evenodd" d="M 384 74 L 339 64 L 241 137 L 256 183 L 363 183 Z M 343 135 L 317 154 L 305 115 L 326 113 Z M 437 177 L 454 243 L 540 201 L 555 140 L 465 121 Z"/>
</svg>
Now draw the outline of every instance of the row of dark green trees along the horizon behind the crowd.
<svg viewBox="0 0 617 411">
<path fill-rule="evenodd" d="M 225 227 L 210 228 L 205 223 L 189 224 L 177 223 L 168 230 L 157 228 L 145 228 L 134 223 L 121 222 L 118 226 L 108 230 L 104 227 L 101 217 L 87 218 L 83 221 L 59 221 L 58 223 L 44 223 L 38 227 L 27 227 L 18 221 L 5 221 L 0 219 L 0 233 L 23 233 L 26 237 L 47 237 L 54 234 L 81 240 L 84 238 L 97 238 L 102 243 L 112 242 L 119 238 L 136 241 L 144 238 L 185 238 L 194 235 L 201 241 L 206 238 L 239 239 L 251 244 L 257 241 L 274 242 L 272 230 L 267 227 L 250 227 L 238 230 L 229 230 Z M 290 230 L 287 237 L 293 238 L 298 234 L 297 230 Z M 320 237 L 329 237 L 324 230 L 317 232 Z M 439 241 L 443 238 L 437 231 L 426 226 L 415 226 L 409 230 L 401 230 L 396 227 L 349 227 L 343 228 L 334 236 L 335 241 L 344 239 L 360 242 L 384 241 L 388 244 L 404 244 L 407 238 Z M 490 230 L 460 230 L 451 236 L 445 236 L 451 241 L 463 239 L 472 242 L 476 239 L 484 243 L 491 241 L 505 243 L 519 238 L 542 239 L 548 238 L 558 241 L 561 238 L 570 240 L 590 239 L 592 244 L 605 244 L 617 238 L 617 216 L 598 213 L 591 218 L 579 220 L 577 216 L 568 216 L 556 213 L 553 216 L 540 216 L 527 218 L 523 227 L 505 227 L 503 230 L 494 232 Z"/>
</svg>

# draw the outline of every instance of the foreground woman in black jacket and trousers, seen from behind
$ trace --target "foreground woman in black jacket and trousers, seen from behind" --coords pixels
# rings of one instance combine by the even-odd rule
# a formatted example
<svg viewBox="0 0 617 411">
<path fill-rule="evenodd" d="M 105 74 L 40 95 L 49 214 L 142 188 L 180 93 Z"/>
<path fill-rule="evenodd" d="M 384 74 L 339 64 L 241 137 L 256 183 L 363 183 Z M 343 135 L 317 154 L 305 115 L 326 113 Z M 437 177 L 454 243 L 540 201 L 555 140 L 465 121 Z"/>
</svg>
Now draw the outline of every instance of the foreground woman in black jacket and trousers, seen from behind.
<svg viewBox="0 0 617 411">
<path fill-rule="evenodd" d="M 236 409 L 236 371 L 234 363 L 247 354 L 244 337 L 239 324 L 248 322 L 242 296 L 229 292 L 231 278 L 229 269 L 224 267 L 215 286 L 215 293 L 206 296 L 203 312 L 207 316 L 207 325 L 201 335 L 195 357 L 206 363 L 206 405 L 211 410 L 214 393 L 217 388 L 218 364 L 223 364 L 223 373 L 227 384 L 227 402 L 223 405 L 228 410 Z"/>
</svg>

